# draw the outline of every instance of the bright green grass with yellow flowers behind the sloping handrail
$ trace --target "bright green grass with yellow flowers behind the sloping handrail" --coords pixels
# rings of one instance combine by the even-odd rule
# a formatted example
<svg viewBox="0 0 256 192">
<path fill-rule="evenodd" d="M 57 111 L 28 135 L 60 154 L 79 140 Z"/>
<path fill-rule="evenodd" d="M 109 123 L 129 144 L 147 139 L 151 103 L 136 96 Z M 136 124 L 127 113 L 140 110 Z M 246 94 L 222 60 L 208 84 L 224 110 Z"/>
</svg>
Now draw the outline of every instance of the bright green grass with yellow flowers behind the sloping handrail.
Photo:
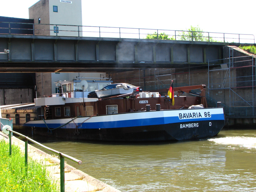
<svg viewBox="0 0 256 192">
<path fill-rule="evenodd" d="M 18 146 L 12 145 L 9 155 L 9 143 L 0 140 L 0 192 L 57 192 L 59 187 L 54 182 L 46 167 L 32 159 L 25 165 L 24 154 Z"/>
</svg>

